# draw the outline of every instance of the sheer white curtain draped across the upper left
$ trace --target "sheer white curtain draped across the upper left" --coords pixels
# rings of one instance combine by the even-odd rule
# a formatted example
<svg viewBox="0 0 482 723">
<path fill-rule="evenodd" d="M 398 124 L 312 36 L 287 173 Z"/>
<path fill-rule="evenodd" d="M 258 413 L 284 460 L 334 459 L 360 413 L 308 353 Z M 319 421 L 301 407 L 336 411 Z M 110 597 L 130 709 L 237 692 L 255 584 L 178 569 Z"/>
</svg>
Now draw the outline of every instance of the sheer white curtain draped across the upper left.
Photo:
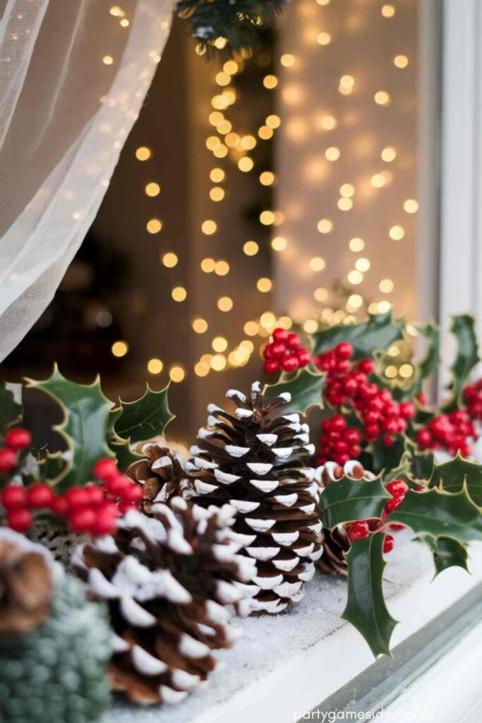
<svg viewBox="0 0 482 723">
<path fill-rule="evenodd" d="M 0 0 L 0 361 L 95 218 L 173 3 Z"/>
</svg>

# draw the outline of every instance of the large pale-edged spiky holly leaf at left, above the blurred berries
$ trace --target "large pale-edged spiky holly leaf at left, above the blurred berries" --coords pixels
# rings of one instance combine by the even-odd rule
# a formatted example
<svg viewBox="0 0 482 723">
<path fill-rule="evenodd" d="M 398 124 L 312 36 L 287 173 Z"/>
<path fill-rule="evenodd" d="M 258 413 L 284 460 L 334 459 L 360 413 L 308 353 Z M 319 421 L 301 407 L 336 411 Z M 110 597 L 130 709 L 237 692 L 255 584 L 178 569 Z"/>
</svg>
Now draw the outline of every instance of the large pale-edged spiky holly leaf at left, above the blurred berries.
<svg viewBox="0 0 482 723">
<path fill-rule="evenodd" d="M 95 462 L 112 456 L 106 432 L 113 403 L 104 396 L 99 377 L 90 385 L 69 382 L 55 365 L 49 379 L 43 382 L 32 379 L 25 381 L 28 387 L 50 396 L 62 411 L 62 422 L 53 429 L 59 432 L 66 443 L 66 464 L 59 469 L 57 461 L 49 462 L 47 469 L 55 469 L 56 474 L 48 479 L 48 483 L 59 492 L 85 484 L 92 477 Z"/>
</svg>

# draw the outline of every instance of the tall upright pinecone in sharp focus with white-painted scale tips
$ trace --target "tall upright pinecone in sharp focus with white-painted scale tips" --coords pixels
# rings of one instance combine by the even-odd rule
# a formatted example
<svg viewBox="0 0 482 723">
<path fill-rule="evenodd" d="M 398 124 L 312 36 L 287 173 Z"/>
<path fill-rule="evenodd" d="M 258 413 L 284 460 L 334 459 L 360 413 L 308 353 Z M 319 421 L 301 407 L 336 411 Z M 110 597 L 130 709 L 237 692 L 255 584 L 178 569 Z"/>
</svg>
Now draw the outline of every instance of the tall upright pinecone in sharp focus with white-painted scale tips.
<svg viewBox="0 0 482 723">
<path fill-rule="evenodd" d="M 301 599 L 301 586 L 323 552 L 317 483 L 309 466 L 314 446 L 299 414 L 283 414 L 289 393 L 264 404 L 255 382 L 249 399 L 236 390 L 226 396 L 236 411 L 208 406 L 209 428 L 199 429 L 199 446 L 191 448 L 194 456 L 186 463 L 184 497 L 203 506 L 229 502 L 236 509 L 233 529 L 257 567 L 251 612 L 280 612 Z"/>
</svg>

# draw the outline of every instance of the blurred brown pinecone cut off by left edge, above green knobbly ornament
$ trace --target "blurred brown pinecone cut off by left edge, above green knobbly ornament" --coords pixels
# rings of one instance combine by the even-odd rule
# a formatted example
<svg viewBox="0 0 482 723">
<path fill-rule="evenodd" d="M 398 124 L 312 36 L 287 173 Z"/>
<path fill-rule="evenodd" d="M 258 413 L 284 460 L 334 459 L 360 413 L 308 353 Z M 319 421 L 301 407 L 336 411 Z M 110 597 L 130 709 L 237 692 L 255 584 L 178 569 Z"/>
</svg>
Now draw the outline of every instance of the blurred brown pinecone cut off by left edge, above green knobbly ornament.
<svg viewBox="0 0 482 723">
<path fill-rule="evenodd" d="M 52 565 L 23 535 L 0 530 L 0 636 L 27 633 L 50 615 Z"/>
</svg>

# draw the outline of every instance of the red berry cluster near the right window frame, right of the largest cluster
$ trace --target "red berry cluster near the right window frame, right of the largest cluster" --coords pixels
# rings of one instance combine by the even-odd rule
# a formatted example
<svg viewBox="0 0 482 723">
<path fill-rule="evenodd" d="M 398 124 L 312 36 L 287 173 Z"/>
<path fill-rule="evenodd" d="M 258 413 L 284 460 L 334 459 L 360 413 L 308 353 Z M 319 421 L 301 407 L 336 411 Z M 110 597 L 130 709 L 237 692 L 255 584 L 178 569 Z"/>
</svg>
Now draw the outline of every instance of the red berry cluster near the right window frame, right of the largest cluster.
<svg viewBox="0 0 482 723">
<path fill-rule="evenodd" d="M 477 433 L 466 411 L 457 409 L 450 414 L 434 416 L 426 427 L 417 433 L 417 442 L 423 449 L 446 449 L 450 454 L 460 452 L 468 457 L 472 452 L 468 437 L 477 439 Z"/>
</svg>

